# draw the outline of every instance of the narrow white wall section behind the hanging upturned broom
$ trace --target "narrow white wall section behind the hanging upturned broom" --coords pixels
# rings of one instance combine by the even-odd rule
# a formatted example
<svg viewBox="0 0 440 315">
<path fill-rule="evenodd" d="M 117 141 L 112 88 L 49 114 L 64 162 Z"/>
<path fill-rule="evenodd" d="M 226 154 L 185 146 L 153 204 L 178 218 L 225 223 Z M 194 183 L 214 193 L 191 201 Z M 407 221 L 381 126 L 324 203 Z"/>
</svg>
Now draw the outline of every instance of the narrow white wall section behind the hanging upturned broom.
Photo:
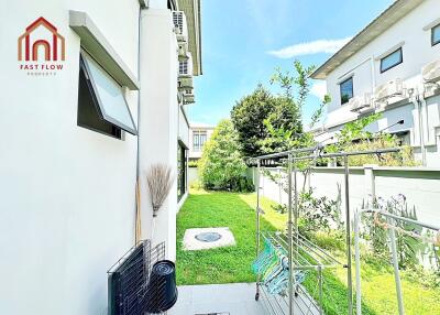
<svg viewBox="0 0 440 315">
<path fill-rule="evenodd" d="M 165 163 L 177 174 L 177 41 L 172 13 L 166 9 L 142 12 L 140 172 L 142 187 L 142 236 L 155 243 L 166 242 L 167 259 L 176 256 L 177 183 L 152 225 L 153 210 L 145 172 L 154 163 Z M 160 43 L 160 44 L 153 44 Z M 145 224 L 144 224 L 145 222 Z"/>
</svg>

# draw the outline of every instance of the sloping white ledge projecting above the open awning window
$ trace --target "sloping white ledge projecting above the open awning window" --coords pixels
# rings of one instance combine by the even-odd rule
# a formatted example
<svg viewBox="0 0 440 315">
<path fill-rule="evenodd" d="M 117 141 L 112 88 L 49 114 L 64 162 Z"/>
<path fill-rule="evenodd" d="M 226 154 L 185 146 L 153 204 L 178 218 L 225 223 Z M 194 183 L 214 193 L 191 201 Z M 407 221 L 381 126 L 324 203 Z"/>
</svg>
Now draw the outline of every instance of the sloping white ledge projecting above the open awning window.
<svg viewBox="0 0 440 315">
<path fill-rule="evenodd" d="M 121 86 L 127 86 L 131 90 L 139 90 L 140 84 L 136 77 L 87 13 L 69 11 L 69 25 L 81 39 L 81 47 L 86 50 L 106 72 Z"/>
</svg>

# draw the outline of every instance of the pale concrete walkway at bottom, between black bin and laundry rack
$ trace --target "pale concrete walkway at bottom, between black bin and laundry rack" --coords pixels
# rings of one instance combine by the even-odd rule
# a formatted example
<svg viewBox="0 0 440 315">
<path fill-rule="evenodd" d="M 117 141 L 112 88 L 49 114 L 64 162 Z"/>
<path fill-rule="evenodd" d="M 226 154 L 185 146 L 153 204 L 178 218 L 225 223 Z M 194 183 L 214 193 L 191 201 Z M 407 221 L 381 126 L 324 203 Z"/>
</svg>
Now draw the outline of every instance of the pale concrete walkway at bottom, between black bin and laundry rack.
<svg viewBox="0 0 440 315">
<path fill-rule="evenodd" d="M 255 302 L 255 283 L 183 285 L 176 305 L 168 315 L 264 315 L 262 302 Z"/>
</svg>

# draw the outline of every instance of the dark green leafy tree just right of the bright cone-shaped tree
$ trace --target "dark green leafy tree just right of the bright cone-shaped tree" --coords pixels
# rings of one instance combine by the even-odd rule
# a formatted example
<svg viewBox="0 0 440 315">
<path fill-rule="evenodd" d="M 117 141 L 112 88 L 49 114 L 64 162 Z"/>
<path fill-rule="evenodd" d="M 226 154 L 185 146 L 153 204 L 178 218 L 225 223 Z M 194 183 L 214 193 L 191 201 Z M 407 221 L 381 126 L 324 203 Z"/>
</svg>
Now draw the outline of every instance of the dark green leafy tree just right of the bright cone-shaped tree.
<svg viewBox="0 0 440 315">
<path fill-rule="evenodd" d="M 263 154 L 258 142 L 268 135 L 264 120 L 275 109 L 275 98 L 262 85 L 239 100 L 231 111 L 232 123 L 238 131 L 244 156 Z"/>
</svg>

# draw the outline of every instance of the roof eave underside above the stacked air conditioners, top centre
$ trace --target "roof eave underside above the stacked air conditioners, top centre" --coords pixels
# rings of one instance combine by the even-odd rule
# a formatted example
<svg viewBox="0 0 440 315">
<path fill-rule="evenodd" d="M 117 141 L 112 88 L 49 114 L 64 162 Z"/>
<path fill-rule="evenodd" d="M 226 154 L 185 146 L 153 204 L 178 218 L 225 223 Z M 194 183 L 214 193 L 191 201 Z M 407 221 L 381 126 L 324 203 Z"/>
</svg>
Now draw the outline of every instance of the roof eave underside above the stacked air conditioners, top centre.
<svg viewBox="0 0 440 315">
<path fill-rule="evenodd" d="M 200 0 L 178 0 L 179 10 L 185 12 L 188 26 L 189 52 L 193 54 L 194 75 L 201 70 L 201 4 Z"/>
</svg>

